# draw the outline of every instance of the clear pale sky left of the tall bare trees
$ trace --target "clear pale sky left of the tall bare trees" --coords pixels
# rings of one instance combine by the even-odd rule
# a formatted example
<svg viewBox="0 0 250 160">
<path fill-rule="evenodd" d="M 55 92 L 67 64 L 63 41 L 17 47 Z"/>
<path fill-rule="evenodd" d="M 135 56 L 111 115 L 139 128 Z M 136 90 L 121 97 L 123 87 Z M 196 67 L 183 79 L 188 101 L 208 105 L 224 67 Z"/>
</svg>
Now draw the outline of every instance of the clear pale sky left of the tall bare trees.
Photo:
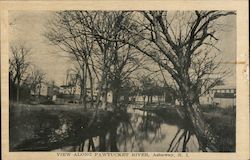
<svg viewBox="0 0 250 160">
<path fill-rule="evenodd" d="M 48 80 L 62 85 L 69 59 L 58 56 L 55 47 L 43 36 L 51 17 L 48 11 L 12 11 L 9 13 L 9 34 L 12 43 L 24 41 L 31 48 L 29 61 L 46 73 Z"/>
</svg>

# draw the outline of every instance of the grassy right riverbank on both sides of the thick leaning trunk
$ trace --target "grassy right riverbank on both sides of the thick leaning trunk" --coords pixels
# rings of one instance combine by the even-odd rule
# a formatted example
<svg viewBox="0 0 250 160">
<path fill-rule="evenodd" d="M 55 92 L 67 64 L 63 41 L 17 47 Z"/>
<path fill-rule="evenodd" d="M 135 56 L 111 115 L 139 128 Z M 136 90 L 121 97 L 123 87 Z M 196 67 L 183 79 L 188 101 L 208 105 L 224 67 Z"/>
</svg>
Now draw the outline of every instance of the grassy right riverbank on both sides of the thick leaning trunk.
<svg viewBox="0 0 250 160">
<path fill-rule="evenodd" d="M 182 113 L 181 107 L 165 106 L 152 107 L 144 106 L 143 108 L 137 108 L 141 111 L 148 111 L 156 113 L 157 115 L 165 119 L 176 119 Z M 236 146 L 236 108 L 219 108 L 214 106 L 201 106 L 205 121 L 209 124 L 212 132 L 218 139 L 217 148 L 219 152 L 235 152 Z M 179 112 L 179 113 L 178 113 Z M 177 123 L 184 123 L 180 121 Z"/>
</svg>

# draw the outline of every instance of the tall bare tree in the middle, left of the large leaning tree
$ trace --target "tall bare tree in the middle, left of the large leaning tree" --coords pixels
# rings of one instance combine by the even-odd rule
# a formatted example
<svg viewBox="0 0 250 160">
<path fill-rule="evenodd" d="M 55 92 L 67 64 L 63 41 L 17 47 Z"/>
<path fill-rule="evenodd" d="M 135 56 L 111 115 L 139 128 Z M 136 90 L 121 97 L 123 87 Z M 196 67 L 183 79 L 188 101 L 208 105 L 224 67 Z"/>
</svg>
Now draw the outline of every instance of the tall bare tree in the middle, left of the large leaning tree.
<svg viewBox="0 0 250 160">
<path fill-rule="evenodd" d="M 100 92 L 103 93 L 103 105 L 107 101 L 107 90 L 113 92 L 113 104 L 117 106 L 121 84 L 134 71 L 141 68 L 143 57 L 138 56 L 138 51 L 122 42 L 112 42 L 103 37 L 131 40 L 129 32 L 122 26 L 133 28 L 130 23 L 130 12 L 82 12 L 78 13 L 78 20 L 89 30 L 87 34 L 95 38 L 100 54 L 97 54 L 101 71 Z M 83 33 L 84 34 L 84 33 Z M 86 32 L 85 32 L 86 34 Z"/>
</svg>

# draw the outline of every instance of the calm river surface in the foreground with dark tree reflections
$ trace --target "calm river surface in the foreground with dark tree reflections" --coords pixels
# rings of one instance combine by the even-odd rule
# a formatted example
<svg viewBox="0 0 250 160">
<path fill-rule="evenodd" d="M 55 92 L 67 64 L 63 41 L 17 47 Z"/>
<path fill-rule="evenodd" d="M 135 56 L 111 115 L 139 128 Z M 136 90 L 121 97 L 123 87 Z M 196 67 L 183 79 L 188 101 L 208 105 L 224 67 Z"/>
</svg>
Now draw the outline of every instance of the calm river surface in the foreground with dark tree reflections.
<svg viewBox="0 0 250 160">
<path fill-rule="evenodd" d="M 82 147 L 81 151 L 197 151 L 197 140 L 192 131 L 185 128 L 186 125 L 180 125 L 178 120 L 176 122 L 173 124 L 173 120 L 168 121 L 150 112 L 127 113 L 106 133 L 86 140 L 88 147 Z"/>
</svg>

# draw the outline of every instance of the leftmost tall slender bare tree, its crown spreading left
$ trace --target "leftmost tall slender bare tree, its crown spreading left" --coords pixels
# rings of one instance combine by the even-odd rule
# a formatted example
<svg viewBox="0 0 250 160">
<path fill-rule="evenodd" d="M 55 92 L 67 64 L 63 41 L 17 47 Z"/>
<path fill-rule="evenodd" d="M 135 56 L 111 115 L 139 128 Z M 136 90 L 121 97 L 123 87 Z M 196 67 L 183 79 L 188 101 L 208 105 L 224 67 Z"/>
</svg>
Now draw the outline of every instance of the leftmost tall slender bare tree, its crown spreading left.
<svg viewBox="0 0 250 160">
<path fill-rule="evenodd" d="M 57 12 L 53 21 L 49 23 L 48 32 L 45 36 L 53 45 L 56 45 L 59 49 L 67 53 L 72 60 L 77 62 L 80 68 L 78 75 L 81 77 L 81 99 L 86 107 L 88 77 L 91 88 L 93 88 L 90 57 L 94 51 L 94 42 L 93 38 L 86 33 L 80 34 L 86 28 L 77 21 L 76 16 L 75 12 L 72 11 Z"/>
</svg>

